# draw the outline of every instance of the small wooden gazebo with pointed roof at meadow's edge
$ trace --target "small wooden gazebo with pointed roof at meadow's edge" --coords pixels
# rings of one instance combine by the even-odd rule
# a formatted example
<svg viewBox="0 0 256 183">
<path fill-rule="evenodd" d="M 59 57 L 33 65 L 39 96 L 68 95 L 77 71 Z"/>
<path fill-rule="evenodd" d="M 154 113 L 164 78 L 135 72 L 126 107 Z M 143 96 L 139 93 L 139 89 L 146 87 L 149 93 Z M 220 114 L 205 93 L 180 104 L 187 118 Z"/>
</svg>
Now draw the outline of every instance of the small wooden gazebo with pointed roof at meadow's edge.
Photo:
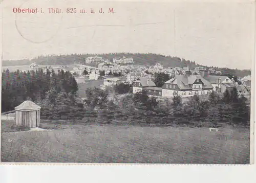
<svg viewBox="0 0 256 183">
<path fill-rule="evenodd" d="M 40 124 L 40 109 L 30 100 L 24 101 L 22 104 L 15 107 L 15 119 L 17 126 L 38 127 Z"/>
</svg>

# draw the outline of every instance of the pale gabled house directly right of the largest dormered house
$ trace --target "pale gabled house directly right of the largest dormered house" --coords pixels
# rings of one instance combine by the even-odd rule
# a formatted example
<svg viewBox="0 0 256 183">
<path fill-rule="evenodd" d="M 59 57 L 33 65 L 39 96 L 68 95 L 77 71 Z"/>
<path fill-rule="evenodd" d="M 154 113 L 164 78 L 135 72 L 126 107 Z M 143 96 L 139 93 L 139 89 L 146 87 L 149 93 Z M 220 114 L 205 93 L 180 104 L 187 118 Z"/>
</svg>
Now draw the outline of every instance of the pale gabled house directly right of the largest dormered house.
<svg viewBox="0 0 256 183">
<path fill-rule="evenodd" d="M 227 76 L 205 75 L 204 79 L 211 83 L 211 85 L 214 87 L 214 91 L 222 93 L 224 93 L 226 89 L 231 89 L 238 86 L 238 84 L 234 83 Z"/>
</svg>

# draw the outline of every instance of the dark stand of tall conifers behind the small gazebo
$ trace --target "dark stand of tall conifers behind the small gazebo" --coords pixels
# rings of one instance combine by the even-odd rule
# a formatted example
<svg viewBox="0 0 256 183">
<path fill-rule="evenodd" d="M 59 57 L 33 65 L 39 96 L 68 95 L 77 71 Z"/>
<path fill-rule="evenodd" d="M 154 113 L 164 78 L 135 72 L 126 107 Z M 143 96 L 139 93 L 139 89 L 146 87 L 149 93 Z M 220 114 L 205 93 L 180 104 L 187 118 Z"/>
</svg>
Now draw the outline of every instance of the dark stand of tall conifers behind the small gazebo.
<svg viewBox="0 0 256 183">
<path fill-rule="evenodd" d="M 47 69 L 43 72 L 28 71 L 2 72 L 2 112 L 13 110 L 14 107 L 26 99 L 37 103 L 47 101 L 47 104 L 56 105 L 61 95 L 75 99 L 78 86 L 70 72 Z"/>
</svg>

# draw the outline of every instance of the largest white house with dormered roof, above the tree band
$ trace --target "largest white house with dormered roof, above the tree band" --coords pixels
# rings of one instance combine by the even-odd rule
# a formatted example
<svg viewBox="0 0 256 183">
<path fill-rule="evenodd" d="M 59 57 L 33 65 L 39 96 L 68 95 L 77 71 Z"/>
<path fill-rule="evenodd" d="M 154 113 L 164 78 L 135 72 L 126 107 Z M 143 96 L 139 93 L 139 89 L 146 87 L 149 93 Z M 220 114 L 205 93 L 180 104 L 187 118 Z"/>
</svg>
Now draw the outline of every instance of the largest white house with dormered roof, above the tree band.
<svg viewBox="0 0 256 183">
<path fill-rule="evenodd" d="M 212 85 L 200 75 L 176 75 L 162 86 L 162 97 L 189 97 L 206 95 L 212 91 Z"/>
</svg>

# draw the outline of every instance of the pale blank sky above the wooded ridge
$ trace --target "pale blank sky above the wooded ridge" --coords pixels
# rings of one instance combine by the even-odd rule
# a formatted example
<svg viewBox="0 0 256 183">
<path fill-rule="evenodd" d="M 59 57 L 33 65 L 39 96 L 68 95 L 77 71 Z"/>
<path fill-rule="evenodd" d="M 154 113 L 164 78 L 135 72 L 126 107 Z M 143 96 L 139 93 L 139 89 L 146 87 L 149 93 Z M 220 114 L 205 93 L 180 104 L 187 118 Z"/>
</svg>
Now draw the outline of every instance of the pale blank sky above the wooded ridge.
<svg viewBox="0 0 256 183">
<path fill-rule="evenodd" d="M 156 53 L 248 69 L 254 60 L 255 6 L 231 2 L 3 1 L 3 60 L 82 53 Z M 37 8 L 44 13 L 13 13 Z M 59 8 L 62 13 L 49 13 Z M 77 13 L 67 13 L 76 8 Z M 84 14 L 80 10 L 95 13 Z M 102 8 L 104 14 L 98 13 Z M 113 8 L 115 13 L 108 13 Z"/>
</svg>

